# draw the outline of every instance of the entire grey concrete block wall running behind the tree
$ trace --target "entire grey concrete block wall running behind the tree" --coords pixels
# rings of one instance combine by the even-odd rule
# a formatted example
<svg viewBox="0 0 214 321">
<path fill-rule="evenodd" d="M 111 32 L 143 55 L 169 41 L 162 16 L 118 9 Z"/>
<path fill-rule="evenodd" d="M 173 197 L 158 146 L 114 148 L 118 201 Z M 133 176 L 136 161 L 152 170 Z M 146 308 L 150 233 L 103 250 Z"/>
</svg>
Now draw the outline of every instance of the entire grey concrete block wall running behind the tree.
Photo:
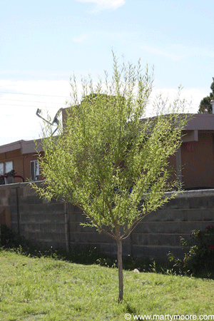
<svg viewBox="0 0 214 321">
<path fill-rule="evenodd" d="M 0 185 L 0 216 L 5 210 L 11 213 L 14 232 L 44 248 L 90 245 L 106 254 L 117 253 L 113 239 L 80 225 L 86 216 L 76 206 L 48 203 L 35 195 L 29 183 Z M 192 230 L 210 224 L 214 225 L 214 190 L 185 191 L 143 218 L 123 240 L 123 255 L 167 260 L 171 251 L 181 257 L 180 236 L 189 238 Z"/>
</svg>

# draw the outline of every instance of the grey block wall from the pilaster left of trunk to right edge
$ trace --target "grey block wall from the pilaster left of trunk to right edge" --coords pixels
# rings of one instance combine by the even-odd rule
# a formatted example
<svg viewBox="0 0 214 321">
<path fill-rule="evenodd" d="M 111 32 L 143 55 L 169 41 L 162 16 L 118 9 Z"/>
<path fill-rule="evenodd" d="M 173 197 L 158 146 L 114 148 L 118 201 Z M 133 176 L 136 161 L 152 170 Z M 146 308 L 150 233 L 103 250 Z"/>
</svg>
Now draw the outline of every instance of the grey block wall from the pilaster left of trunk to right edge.
<svg viewBox="0 0 214 321">
<path fill-rule="evenodd" d="M 97 233 L 95 228 L 79 225 L 85 218 L 81 210 L 70 205 L 68 212 L 71 245 L 90 244 L 98 246 L 104 253 L 116 255 L 114 240 Z M 167 260 L 170 251 L 182 258 L 180 236 L 188 239 L 192 230 L 204 230 L 211 224 L 214 225 L 214 190 L 184 191 L 143 218 L 130 237 L 123 240 L 123 255 Z"/>
</svg>

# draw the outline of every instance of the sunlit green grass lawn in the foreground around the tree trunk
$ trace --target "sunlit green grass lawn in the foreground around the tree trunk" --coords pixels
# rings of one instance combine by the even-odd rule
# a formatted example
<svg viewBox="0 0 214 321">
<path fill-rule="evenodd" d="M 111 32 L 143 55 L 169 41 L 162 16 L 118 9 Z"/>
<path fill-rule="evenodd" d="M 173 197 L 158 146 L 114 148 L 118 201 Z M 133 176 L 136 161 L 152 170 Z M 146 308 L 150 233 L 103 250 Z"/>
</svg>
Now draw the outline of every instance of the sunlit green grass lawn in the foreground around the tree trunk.
<svg viewBox="0 0 214 321">
<path fill-rule="evenodd" d="M 126 320 L 126 313 L 127 320 L 135 320 L 135 315 L 160 315 L 160 320 L 161 315 L 214 315 L 214 280 L 125 270 L 124 300 L 118 305 L 117 272 L 1 250 L 0 320 L 120 321 Z"/>
</svg>

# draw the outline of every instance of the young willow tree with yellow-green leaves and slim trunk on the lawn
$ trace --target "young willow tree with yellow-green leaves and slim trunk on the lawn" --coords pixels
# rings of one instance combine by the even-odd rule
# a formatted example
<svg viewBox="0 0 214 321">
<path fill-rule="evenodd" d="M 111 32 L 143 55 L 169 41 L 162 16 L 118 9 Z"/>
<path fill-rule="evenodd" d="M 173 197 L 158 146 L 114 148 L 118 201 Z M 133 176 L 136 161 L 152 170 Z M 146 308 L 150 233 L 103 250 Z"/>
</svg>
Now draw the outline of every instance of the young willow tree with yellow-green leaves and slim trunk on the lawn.
<svg viewBox="0 0 214 321">
<path fill-rule="evenodd" d="M 187 116 L 172 113 L 143 118 L 153 78 L 131 63 L 118 66 L 113 55 L 113 78 L 108 83 L 91 78 L 71 79 L 73 102 L 57 137 L 44 131 L 44 156 L 39 158 L 44 186 L 41 197 L 62 198 L 81 208 L 88 223 L 113 238 L 118 246 L 118 302 L 123 300 L 122 240 L 142 218 L 179 191 L 168 158 L 179 148 Z M 164 101 L 158 106 L 163 111 Z M 160 109 L 159 108 L 159 109 Z M 36 188 L 36 186 L 34 186 Z M 165 191 L 173 190 L 169 197 Z"/>
</svg>

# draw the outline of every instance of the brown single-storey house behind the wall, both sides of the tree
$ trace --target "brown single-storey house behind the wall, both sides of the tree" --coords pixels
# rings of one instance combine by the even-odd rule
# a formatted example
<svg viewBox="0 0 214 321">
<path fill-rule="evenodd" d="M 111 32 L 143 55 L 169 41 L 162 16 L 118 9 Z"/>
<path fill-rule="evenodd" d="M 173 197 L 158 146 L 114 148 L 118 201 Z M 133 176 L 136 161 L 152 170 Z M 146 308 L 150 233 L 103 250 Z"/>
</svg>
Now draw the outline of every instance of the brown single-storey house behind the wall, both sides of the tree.
<svg viewBox="0 0 214 321">
<path fill-rule="evenodd" d="M 66 109 L 62 111 L 63 123 Z M 214 114 L 198 113 L 190 118 L 183 131 L 183 143 L 169 158 L 185 190 L 214 188 Z M 36 141 L 43 153 L 41 140 Z M 35 141 L 16 141 L 0 146 L 0 175 L 14 170 L 26 180 L 41 180 Z M 9 178 L 4 183 L 16 183 L 20 178 Z M 1 183 L 1 182 L 0 182 Z"/>
</svg>

